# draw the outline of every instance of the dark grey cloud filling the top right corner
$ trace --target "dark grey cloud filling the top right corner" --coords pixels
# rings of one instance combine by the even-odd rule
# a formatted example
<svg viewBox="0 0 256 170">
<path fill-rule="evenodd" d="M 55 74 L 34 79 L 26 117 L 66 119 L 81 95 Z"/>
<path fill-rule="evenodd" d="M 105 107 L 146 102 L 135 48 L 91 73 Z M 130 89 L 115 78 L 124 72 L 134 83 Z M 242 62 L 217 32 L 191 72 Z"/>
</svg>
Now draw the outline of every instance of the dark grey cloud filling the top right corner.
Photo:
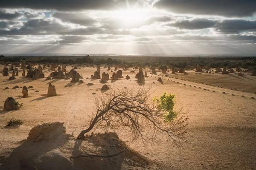
<svg viewBox="0 0 256 170">
<path fill-rule="evenodd" d="M 244 17 L 256 12 L 256 0 L 159 0 L 154 6 L 179 14 Z"/>
</svg>

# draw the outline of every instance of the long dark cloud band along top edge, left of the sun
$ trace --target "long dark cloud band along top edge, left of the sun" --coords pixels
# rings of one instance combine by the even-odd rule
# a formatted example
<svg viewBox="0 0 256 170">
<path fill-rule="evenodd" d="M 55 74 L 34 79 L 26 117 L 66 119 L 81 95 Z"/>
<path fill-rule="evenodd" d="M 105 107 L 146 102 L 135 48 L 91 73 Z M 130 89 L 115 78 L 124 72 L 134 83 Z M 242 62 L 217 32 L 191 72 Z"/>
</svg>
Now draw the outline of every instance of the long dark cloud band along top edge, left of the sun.
<svg viewBox="0 0 256 170">
<path fill-rule="evenodd" d="M 144 0 L 128 0 L 131 6 Z M 126 0 L 0 0 L 1 8 L 32 8 L 55 10 L 113 9 L 126 7 Z"/>
</svg>

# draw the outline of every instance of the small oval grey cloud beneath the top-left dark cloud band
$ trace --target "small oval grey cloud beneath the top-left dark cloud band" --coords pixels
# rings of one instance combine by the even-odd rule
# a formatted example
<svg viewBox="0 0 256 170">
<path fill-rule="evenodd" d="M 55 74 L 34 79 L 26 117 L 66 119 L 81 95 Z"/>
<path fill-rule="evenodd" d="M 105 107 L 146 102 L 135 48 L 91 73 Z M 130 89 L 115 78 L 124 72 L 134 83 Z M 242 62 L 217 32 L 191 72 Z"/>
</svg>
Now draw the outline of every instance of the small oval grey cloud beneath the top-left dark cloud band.
<svg viewBox="0 0 256 170">
<path fill-rule="evenodd" d="M 64 22 L 75 23 L 83 26 L 90 26 L 97 22 L 93 18 L 88 17 L 83 13 L 55 12 L 54 14 L 52 14 L 52 16 Z"/>
</svg>

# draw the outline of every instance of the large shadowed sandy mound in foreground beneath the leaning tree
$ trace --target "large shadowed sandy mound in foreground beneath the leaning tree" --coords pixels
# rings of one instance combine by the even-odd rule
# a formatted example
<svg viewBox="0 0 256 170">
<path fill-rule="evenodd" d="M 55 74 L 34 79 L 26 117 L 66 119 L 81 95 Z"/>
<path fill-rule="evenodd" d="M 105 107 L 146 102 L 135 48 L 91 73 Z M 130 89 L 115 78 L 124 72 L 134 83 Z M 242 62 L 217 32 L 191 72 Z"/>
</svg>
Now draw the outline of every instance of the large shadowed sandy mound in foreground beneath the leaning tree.
<svg viewBox="0 0 256 170">
<path fill-rule="evenodd" d="M 155 169 L 144 156 L 128 147 L 116 133 L 97 133 L 76 140 L 63 123 L 33 127 L 0 169 L 127 170 Z"/>
</svg>

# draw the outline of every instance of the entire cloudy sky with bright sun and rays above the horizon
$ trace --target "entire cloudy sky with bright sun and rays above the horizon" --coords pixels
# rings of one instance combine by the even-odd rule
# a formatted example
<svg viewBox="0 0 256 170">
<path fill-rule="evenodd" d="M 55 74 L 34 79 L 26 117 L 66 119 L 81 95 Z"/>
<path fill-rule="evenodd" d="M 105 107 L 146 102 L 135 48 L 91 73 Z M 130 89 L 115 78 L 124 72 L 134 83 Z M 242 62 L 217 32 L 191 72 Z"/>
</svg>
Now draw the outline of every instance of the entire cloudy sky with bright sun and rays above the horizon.
<svg viewBox="0 0 256 170">
<path fill-rule="evenodd" d="M 0 0 L 1 54 L 256 54 L 256 0 Z"/>
</svg>

